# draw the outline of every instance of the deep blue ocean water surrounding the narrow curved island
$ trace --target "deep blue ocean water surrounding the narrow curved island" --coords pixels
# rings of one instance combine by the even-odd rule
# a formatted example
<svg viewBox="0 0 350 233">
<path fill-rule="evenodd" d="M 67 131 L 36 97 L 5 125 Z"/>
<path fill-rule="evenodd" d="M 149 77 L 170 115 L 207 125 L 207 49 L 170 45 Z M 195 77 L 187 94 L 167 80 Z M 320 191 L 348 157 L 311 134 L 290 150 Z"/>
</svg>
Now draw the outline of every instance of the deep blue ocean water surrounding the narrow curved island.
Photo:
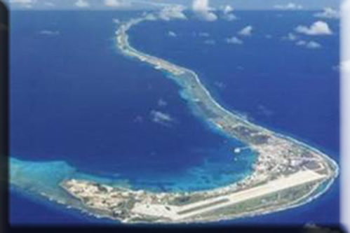
<svg viewBox="0 0 350 233">
<path fill-rule="evenodd" d="M 112 19 L 137 14 L 12 13 L 11 156 L 64 160 L 87 174 L 160 190 L 215 188 L 248 174 L 253 155 L 233 157 L 228 151 L 239 143 L 192 114 L 172 80 L 118 53 Z M 254 11 L 237 12 L 234 22 L 144 22 L 131 29 L 130 42 L 196 71 L 226 108 L 339 162 L 339 21 L 327 20 L 332 36 L 300 36 L 320 49 L 281 39 L 315 22 L 313 14 Z M 225 42 L 247 25 L 253 35 L 243 45 Z M 156 122 L 154 112 L 172 120 Z M 10 207 L 14 224 L 109 223 L 18 192 L 11 192 Z M 310 222 L 339 223 L 339 179 L 307 205 L 220 224 Z"/>
</svg>

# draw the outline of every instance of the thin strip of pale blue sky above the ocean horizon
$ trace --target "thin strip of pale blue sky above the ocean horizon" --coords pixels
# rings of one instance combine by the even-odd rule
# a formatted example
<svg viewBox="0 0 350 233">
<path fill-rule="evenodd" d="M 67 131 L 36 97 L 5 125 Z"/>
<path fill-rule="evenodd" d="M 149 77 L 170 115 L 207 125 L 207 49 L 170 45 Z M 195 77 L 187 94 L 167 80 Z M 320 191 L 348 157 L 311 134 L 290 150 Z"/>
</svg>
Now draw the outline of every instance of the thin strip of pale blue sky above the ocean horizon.
<svg viewBox="0 0 350 233">
<path fill-rule="evenodd" d="M 1 1 L 1 0 L 0 0 Z M 231 6 L 235 10 L 318 10 L 339 8 L 341 0 L 3 0 L 11 10 L 130 10 L 162 7 L 168 4 L 193 8 L 219 9 Z"/>
</svg>

